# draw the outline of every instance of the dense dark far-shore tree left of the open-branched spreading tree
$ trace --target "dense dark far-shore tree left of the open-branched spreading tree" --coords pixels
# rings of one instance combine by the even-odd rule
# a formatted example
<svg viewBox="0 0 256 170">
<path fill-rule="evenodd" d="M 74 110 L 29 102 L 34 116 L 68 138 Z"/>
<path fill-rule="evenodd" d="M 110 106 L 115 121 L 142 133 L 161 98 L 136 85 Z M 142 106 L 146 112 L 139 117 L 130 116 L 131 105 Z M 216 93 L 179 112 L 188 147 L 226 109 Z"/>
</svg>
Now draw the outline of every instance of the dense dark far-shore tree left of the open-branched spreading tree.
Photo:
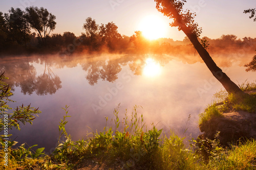
<svg viewBox="0 0 256 170">
<path fill-rule="evenodd" d="M 30 40 L 30 26 L 25 17 L 25 12 L 19 8 L 11 8 L 9 14 L 5 14 L 11 41 L 27 45 Z"/>
</svg>

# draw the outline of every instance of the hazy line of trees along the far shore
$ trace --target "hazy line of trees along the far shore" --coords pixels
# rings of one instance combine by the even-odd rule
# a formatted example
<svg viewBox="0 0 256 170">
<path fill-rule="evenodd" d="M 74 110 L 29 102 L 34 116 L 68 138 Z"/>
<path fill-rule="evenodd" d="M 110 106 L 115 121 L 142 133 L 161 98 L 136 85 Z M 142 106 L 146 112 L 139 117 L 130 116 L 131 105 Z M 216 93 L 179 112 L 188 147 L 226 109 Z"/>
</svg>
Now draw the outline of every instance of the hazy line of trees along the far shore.
<svg viewBox="0 0 256 170">
<path fill-rule="evenodd" d="M 251 12 L 251 11 L 249 11 Z M 27 7 L 25 11 L 11 8 L 8 13 L 0 12 L 0 55 L 29 53 L 72 53 L 110 52 L 110 53 L 166 53 L 194 54 L 188 37 L 183 41 L 159 38 L 149 41 L 141 31 L 132 36 L 118 33 L 114 22 L 98 25 L 95 19 L 86 18 L 84 32 L 76 36 L 72 32 L 52 33 L 56 27 L 56 16 L 41 7 Z M 199 38 L 200 39 L 200 38 Z M 236 35 L 222 35 L 218 39 L 203 37 L 209 43 L 209 51 L 224 48 L 245 48 L 255 38 L 238 39 Z M 246 48 L 248 49 L 248 47 Z"/>
</svg>

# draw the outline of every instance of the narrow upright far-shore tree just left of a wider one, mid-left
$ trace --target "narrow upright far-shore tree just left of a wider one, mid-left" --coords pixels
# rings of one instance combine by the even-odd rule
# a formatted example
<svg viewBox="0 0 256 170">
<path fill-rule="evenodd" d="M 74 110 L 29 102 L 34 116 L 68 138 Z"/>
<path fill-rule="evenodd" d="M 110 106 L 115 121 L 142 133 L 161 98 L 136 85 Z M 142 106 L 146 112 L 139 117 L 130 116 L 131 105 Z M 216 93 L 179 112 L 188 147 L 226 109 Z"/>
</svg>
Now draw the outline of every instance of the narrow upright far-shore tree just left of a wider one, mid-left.
<svg viewBox="0 0 256 170">
<path fill-rule="evenodd" d="M 93 43 L 99 33 L 99 25 L 96 24 L 95 19 L 88 17 L 86 22 L 83 23 L 83 29 L 86 31 L 86 36 L 90 37 L 91 43 Z"/>
</svg>

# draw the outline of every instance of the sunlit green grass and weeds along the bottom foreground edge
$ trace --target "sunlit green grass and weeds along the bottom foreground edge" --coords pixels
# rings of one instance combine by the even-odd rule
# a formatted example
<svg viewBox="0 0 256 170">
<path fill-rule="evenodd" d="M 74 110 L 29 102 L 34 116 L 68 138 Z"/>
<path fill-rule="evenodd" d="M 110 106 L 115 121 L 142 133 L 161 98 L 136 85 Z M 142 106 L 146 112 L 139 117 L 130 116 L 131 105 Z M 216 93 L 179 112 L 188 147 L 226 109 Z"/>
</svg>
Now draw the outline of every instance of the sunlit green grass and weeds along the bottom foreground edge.
<svg viewBox="0 0 256 170">
<path fill-rule="evenodd" d="M 217 111 L 215 106 L 209 107 L 208 112 Z M 44 155 L 40 151 L 26 149 L 25 144 L 17 149 L 9 147 L 9 166 L 3 161 L 0 168 L 5 169 L 78 169 L 84 166 L 84 161 L 93 160 L 96 164 L 104 164 L 102 169 L 253 169 L 256 160 L 256 141 L 232 145 L 231 149 L 223 148 L 218 139 L 209 140 L 211 148 L 206 149 L 209 160 L 204 161 L 200 154 L 202 150 L 198 143 L 203 140 L 190 141 L 190 147 L 184 145 L 184 138 L 170 131 L 170 136 L 161 135 L 154 125 L 147 130 L 143 115 L 138 114 L 135 106 L 131 116 L 119 118 L 118 108 L 114 110 L 114 119 L 106 117 L 106 126 L 101 132 L 92 132 L 88 139 L 72 141 L 65 125 L 68 123 L 68 107 L 66 115 L 59 123 L 60 136 L 66 137 L 52 155 Z M 120 121 L 122 120 L 122 121 Z M 3 143 L 2 143 L 3 144 Z M 0 156 L 5 154 L 1 150 Z M 115 165 L 115 167 L 113 167 Z M 99 168 L 100 169 L 100 168 Z"/>
</svg>

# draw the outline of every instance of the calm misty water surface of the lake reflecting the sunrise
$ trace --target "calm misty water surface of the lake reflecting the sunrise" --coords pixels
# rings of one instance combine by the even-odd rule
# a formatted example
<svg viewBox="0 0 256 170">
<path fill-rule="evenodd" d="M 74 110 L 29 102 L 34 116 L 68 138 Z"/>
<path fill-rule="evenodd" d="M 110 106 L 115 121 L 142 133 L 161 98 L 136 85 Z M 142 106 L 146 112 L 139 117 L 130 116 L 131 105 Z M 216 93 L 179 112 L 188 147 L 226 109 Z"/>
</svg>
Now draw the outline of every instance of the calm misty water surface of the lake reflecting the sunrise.
<svg viewBox="0 0 256 170">
<path fill-rule="evenodd" d="M 243 67 L 252 55 L 232 60 L 223 54 L 216 56 L 217 65 L 233 82 L 255 80 L 255 72 Z M 7 83 L 14 90 L 10 99 L 16 103 L 9 105 L 15 108 L 31 103 L 42 111 L 32 126 L 12 130 L 12 139 L 46 147 L 48 153 L 56 147 L 58 124 L 65 115 L 61 108 L 66 105 L 71 115 L 66 130 L 73 140 L 102 131 L 104 117 L 109 117 L 110 126 L 119 103 L 120 119 L 126 109 L 131 115 L 135 105 L 141 106 L 138 112 L 147 129 L 154 123 L 166 134 L 172 129 L 183 135 L 190 114 L 185 136 L 197 137 L 198 115 L 213 101 L 212 95 L 223 89 L 197 55 L 33 56 L 1 61 L 0 71 L 6 72 Z"/>
</svg>

